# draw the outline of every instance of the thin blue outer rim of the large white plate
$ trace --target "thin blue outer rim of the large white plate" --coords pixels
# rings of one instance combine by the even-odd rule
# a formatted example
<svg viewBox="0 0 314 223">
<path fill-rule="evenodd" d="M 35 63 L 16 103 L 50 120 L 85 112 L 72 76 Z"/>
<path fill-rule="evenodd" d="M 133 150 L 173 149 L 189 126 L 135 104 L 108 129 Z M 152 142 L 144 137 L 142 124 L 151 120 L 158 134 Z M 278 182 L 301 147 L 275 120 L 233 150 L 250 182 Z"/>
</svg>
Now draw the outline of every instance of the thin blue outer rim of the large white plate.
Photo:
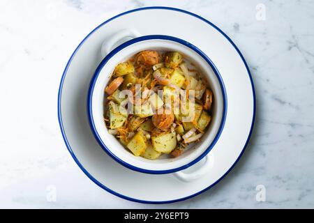
<svg viewBox="0 0 314 223">
<path fill-rule="evenodd" d="M 234 164 L 232 164 L 232 166 L 230 167 L 230 169 L 228 169 L 225 174 L 223 174 L 223 176 L 221 176 L 218 180 L 216 180 L 215 183 L 212 183 L 211 185 L 209 185 L 208 187 L 204 188 L 203 190 L 195 193 L 195 194 L 191 194 L 187 197 L 182 197 L 180 199 L 174 199 L 174 200 L 168 200 L 168 201 L 145 201 L 145 200 L 140 200 L 140 199 L 134 199 L 132 197 L 127 197 L 123 194 L 119 194 L 117 192 L 114 192 L 114 190 L 111 190 L 109 187 L 106 187 L 105 185 L 103 185 L 102 183 L 100 183 L 98 180 L 96 180 L 96 178 L 94 178 L 93 176 L 91 176 L 91 174 L 89 174 L 89 172 L 82 166 L 82 164 L 80 163 L 79 160 L 77 160 L 77 157 L 75 156 L 75 154 L 72 151 L 72 148 L 70 148 L 70 144 L 68 144 L 68 139 L 66 138 L 66 133 L 64 131 L 63 128 L 63 123 L 62 123 L 62 116 L 61 116 L 61 93 L 62 93 L 62 87 L 63 87 L 63 82 L 64 82 L 64 78 L 66 77 L 66 72 L 68 70 L 68 66 L 70 65 L 70 62 L 72 61 L 73 57 L 75 56 L 76 52 L 78 49 L 80 49 L 80 46 L 85 42 L 85 40 L 87 40 L 87 38 L 89 38 L 89 36 L 91 36 L 92 33 L 94 33 L 94 31 L 96 31 L 97 29 L 99 29 L 101 26 L 107 24 L 108 22 L 116 19 L 117 17 L 120 17 L 122 15 L 126 15 L 129 13 L 133 13 L 139 10 L 151 10 L 151 9 L 160 9 L 160 10 L 174 10 L 174 11 L 178 11 L 181 13 L 185 13 L 188 15 L 191 15 L 193 17 L 198 18 L 199 20 L 202 20 L 203 22 L 206 22 L 207 24 L 209 24 L 210 26 L 214 27 L 214 29 L 216 29 L 218 32 L 220 32 L 223 36 L 225 36 L 225 38 L 232 44 L 232 46 L 234 47 L 234 49 L 237 50 L 239 56 L 241 57 L 244 65 L 246 66 L 246 70 L 248 72 L 248 77 L 250 78 L 251 81 L 251 86 L 252 86 L 252 93 L 253 93 L 253 117 L 252 117 L 252 124 L 251 124 L 251 128 L 250 128 L 250 132 L 248 133 L 248 138 L 246 139 L 246 144 L 244 144 L 244 148 L 242 149 L 239 157 L 237 157 L 237 160 L 234 162 Z M 59 120 L 59 125 L 60 125 L 60 129 L 61 129 L 61 134 L 63 137 L 63 140 L 66 144 L 66 147 L 68 148 L 68 151 L 70 153 L 70 155 L 73 157 L 73 160 L 76 162 L 77 166 L 80 167 L 80 169 L 82 169 L 82 171 L 84 172 L 84 174 L 86 176 L 88 176 L 96 185 L 98 185 L 99 187 L 103 188 L 103 190 L 106 190 L 107 192 L 110 192 L 111 194 L 116 195 L 117 197 L 120 197 L 122 199 L 126 199 L 128 201 L 134 201 L 134 202 L 139 202 L 139 203 L 174 203 L 174 202 L 178 202 L 178 201 L 184 201 L 186 199 L 190 199 L 192 197 L 197 196 L 198 194 L 202 194 L 203 192 L 209 190 L 211 187 L 214 187 L 214 185 L 216 185 L 217 183 L 220 182 L 220 180 L 222 180 L 223 178 L 225 178 L 225 176 L 227 176 L 227 174 L 230 173 L 230 171 L 233 169 L 233 167 L 235 166 L 235 164 L 237 164 L 237 162 L 239 161 L 240 157 L 243 155 L 246 147 L 248 146 L 248 141 L 250 141 L 251 139 L 251 135 L 253 132 L 253 128 L 254 128 L 254 123 L 255 123 L 255 113 L 256 113 L 256 98 L 255 98 L 255 87 L 253 84 L 253 79 L 252 79 L 252 75 L 250 70 L 248 69 L 248 64 L 246 63 L 246 60 L 244 59 L 244 56 L 241 54 L 240 50 L 238 49 L 238 47 L 232 42 L 232 40 L 229 38 L 229 36 L 227 36 L 223 31 L 221 31 L 216 25 L 214 25 L 213 23 L 209 22 L 209 20 L 204 19 L 203 17 L 200 17 L 200 15 L 196 15 L 194 13 L 190 13 L 186 10 L 182 10 L 179 8 L 170 8 L 170 7 L 163 7 L 163 6 L 154 6 L 154 7 L 146 7 L 146 8 L 136 8 L 133 10 L 128 10 L 124 13 L 121 13 L 119 15 L 116 15 L 112 18 L 110 18 L 109 20 L 103 22 L 102 24 L 100 24 L 99 26 L 97 26 L 93 31 L 91 31 L 83 40 L 82 42 L 76 47 L 75 51 L 73 52 L 73 54 L 70 56 L 70 59 L 68 60 L 68 63 L 66 63 L 66 68 L 63 71 L 63 75 L 61 77 L 61 81 L 60 81 L 60 86 L 59 86 L 59 92 L 58 92 L 58 120 Z"/>
</svg>

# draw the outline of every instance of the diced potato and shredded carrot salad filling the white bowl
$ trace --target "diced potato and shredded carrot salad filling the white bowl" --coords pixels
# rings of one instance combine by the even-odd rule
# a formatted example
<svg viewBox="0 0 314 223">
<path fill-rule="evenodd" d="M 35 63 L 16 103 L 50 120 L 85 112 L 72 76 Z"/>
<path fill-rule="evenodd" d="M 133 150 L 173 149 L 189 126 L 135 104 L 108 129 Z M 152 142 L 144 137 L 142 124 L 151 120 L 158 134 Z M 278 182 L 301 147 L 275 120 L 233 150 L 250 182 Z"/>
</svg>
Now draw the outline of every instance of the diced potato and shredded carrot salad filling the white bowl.
<svg viewBox="0 0 314 223">
<path fill-rule="evenodd" d="M 178 157 L 202 140 L 214 95 L 179 52 L 144 50 L 119 63 L 105 87 L 105 124 L 135 156 Z"/>
</svg>

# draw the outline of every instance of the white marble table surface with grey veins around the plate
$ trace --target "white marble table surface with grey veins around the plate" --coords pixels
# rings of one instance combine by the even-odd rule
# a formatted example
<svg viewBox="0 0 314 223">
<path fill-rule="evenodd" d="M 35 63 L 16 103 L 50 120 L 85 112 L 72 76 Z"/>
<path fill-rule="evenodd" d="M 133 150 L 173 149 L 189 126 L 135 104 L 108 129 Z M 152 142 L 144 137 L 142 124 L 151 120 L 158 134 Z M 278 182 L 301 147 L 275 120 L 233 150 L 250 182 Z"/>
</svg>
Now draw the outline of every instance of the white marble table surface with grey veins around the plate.
<svg viewBox="0 0 314 223">
<path fill-rule="evenodd" d="M 199 196 L 134 203 L 91 182 L 63 143 L 57 92 L 84 36 L 133 8 L 207 18 L 244 54 L 257 94 L 251 142 Z M 314 1 L 0 1 L 0 208 L 314 208 Z M 264 199 L 260 199 L 262 190 Z"/>
</svg>

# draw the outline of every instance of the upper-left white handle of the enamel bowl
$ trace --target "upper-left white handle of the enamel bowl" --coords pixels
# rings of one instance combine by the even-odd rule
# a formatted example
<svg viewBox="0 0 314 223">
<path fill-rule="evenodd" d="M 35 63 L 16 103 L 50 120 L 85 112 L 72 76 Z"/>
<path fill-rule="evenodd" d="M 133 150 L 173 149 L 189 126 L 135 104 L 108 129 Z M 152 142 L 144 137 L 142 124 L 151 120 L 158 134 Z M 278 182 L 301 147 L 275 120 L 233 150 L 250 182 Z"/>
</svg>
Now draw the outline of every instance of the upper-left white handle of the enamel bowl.
<svg viewBox="0 0 314 223">
<path fill-rule="evenodd" d="M 107 54 L 109 54 L 110 51 L 114 49 L 114 47 L 117 47 L 118 43 L 126 42 L 126 38 L 130 40 L 139 36 L 142 36 L 142 35 L 140 35 L 140 33 L 138 33 L 137 31 L 133 29 L 123 29 L 115 33 L 113 36 L 103 41 L 103 45 L 101 45 L 101 51 L 100 51 L 101 56 L 103 56 L 103 58 L 107 56 Z"/>
</svg>

